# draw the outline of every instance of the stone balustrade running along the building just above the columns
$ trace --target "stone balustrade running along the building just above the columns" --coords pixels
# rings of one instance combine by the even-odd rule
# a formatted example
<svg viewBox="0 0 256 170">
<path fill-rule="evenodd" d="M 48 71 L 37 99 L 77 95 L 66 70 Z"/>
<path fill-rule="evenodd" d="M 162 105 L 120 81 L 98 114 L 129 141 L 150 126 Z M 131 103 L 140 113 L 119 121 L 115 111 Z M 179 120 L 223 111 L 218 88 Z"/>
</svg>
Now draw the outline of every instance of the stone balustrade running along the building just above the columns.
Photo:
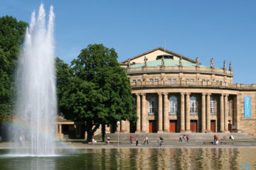
<svg viewBox="0 0 256 170">
<path fill-rule="evenodd" d="M 139 81 L 131 82 L 132 87 L 139 86 L 209 86 L 231 89 L 256 89 L 256 84 L 229 84 L 227 82 L 212 81 Z"/>
</svg>

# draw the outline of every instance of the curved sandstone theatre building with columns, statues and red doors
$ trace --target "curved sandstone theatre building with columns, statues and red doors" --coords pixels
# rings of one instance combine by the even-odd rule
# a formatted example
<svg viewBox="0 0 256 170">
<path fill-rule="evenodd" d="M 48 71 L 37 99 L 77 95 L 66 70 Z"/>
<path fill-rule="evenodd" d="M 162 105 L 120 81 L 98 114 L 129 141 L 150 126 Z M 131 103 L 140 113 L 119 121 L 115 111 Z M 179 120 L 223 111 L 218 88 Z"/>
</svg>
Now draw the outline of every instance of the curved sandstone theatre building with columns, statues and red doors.
<svg viewBox="0 0 256 170">
<path fill-rule="evenodd" d="M 158 47 L 120 62 L 136 100 L 136 125 L 121 132 L 246 132 L 256 135 L 256 84 L 233 84 L 231 62 L 215 68 Z M 250 99 L 250 100 L 249 100 Z M 246 100 L 246 101 L 245 101 Z"/>
</svg>

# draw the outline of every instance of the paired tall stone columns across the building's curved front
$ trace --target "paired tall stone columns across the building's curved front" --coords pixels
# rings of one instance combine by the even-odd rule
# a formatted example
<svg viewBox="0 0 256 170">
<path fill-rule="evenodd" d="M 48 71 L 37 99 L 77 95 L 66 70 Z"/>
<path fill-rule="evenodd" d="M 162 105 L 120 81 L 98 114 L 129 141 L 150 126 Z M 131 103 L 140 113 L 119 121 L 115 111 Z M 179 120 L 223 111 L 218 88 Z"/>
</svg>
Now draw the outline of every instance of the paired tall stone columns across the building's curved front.
<svg viewBox="0 0 256 170">
<path fill-rule="evenodd" d="M 180 93 L 180 132 L 191 131 L 190 97 L 191 93 Z M 210 96 L 212 94 L 201 94 L 201 131 L 210 132 Z M 137 130 L 136 132 L 148 132 L 146 128 L 146 94 L 136 94 L 137 96 Z M 164 96 L 164 100 L 163 100 Z M 158 93 L 158 129 L 157 132 L 169 132 L 169 93 Z M 186 101 L 185 101 L 186 100 Z M 199 110 L 199 108 L 198 108 Z M 198 112 L 200 113 L 200 112 Z M 216 115 L 217 116 L 217 115 Z M 220 132 L 228 132 L 228 94 L 220 94 Z"/>
</svg>

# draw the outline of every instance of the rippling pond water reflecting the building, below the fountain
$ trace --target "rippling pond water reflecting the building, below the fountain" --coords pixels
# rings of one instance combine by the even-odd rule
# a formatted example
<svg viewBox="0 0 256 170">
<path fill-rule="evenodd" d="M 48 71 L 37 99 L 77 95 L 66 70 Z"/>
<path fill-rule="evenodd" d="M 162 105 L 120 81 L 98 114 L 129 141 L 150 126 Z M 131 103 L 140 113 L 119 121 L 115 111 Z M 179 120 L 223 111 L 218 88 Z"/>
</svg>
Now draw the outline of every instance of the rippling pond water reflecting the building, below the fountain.
<svg viewBox="0 0 256 170">
<path fill-rule="evenodd" d="M 60 149 L 53 157 L 0 150 L 0 169 L 256 169 L 252 148 Z"/>
</svg>

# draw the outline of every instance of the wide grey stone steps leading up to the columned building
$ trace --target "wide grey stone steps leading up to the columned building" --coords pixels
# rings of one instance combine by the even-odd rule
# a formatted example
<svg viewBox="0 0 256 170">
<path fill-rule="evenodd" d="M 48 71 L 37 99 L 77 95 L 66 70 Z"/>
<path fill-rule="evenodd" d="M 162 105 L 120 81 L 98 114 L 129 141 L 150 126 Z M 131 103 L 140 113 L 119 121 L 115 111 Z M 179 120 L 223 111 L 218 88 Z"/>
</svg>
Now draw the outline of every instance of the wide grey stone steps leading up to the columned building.
<svg viewBox="0 0 256 170">
<path fill-rule="evenodd" d="M 220 139 L 223 137 L 229 138 L 230 133 L 218 133 L 218 132 L 209 132 L 209 133 L 119 133 L 119 142 L 129 143 L 130 136 L 134 137 L 134 141 L 136 136 L 138 135 L 139 141 L 144 141 L 146 136 L 149 137 L 149 142 L 156 142 L 159 140 L 159 137 L 163 137 L 165 142 L 178 142 L 178 138 L 180 135 L 188 135 L 190 141 L 198 141 L 198 142 L 210 142 L 213 141 L 213 136 L 217 135 Z M 241 132 L 233 132 L 233 137 L 235 137 L 235 141 L 255 141 L 254 137 L 250 135 L 246 135 Z M 105 135 L 105 141 L 107 137 L 110 137 L 111 142 L 117 142 L 118 134 L 117 133 L 107 133 Z M 98 142 L 102 141 L 102 135 L 95 135 L 93 137 Z"/>
</svg>

